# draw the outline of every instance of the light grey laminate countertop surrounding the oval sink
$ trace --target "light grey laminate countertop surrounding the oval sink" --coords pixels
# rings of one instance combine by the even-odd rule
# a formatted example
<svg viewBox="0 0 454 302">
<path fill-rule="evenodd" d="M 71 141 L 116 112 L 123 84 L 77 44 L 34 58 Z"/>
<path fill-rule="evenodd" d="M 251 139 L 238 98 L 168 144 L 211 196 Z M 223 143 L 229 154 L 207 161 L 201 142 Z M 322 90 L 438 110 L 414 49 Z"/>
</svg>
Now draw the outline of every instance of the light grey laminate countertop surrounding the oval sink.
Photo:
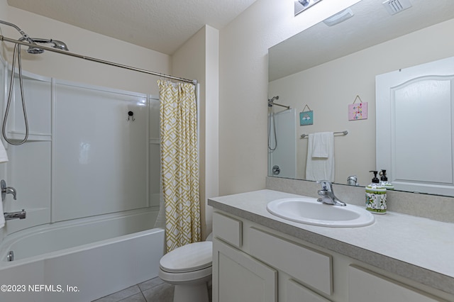
<svg viewBox="0 0 454 302">
<path fill-rule="evenodd" d="M 454 223 L 400 213 L 375 215 L 361 228 L 326 228 L 272 215 L 267 203 L 298 197 L 260 190 L 209 198 L 209 206 L 314 245 L 358 259 L 387 272 L 454 294 Z M 352 206 L 352 205 L 349 205 Z"/>
</svg>

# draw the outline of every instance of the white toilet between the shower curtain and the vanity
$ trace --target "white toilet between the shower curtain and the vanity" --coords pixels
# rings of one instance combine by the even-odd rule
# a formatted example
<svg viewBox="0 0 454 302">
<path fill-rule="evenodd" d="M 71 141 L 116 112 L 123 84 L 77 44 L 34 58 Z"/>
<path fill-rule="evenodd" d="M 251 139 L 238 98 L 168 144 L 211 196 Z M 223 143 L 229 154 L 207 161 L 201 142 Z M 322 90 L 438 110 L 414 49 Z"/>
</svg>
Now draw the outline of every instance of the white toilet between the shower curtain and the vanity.
<svg viewBox="0 0 454 302">
<path fill-rule="evenodd" d="M 162 256 L 159 276 L 175 285 L 174 302 L 209 302 L 212 259 L 211 241 L 190 243 Z"/>
</svg>

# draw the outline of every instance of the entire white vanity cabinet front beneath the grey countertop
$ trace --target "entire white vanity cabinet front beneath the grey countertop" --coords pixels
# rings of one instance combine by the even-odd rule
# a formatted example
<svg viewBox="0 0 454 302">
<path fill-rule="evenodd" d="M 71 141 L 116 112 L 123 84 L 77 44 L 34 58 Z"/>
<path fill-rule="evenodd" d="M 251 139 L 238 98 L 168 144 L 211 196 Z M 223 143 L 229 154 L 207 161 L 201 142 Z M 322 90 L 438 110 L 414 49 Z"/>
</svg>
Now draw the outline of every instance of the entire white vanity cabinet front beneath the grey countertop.
<svg viewBox="0 0 454 302">
<path fill-rule="evenodd" d="M 213 216 L 213 301 L 454 301 L 414 281 L 317 247 L 258 223 Z M 378 272 L 380 271 L 380 272 Z M 399 281 L 397 281 L 399 280 Z"/>
</svg>

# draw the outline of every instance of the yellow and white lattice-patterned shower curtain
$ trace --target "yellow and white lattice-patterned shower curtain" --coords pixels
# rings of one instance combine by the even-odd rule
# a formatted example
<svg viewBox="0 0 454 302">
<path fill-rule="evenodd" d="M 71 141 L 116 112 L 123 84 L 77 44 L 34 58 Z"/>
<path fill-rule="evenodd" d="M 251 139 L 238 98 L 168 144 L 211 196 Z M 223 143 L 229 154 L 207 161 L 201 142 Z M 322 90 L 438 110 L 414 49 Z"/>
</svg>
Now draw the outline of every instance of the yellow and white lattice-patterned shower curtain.
<svg viewBox="0 0 454 302">
<path fill-rule="evenodd" d="M 159 80 L 167 252 L 201 241 L 195 86 Z"/>
</svg>

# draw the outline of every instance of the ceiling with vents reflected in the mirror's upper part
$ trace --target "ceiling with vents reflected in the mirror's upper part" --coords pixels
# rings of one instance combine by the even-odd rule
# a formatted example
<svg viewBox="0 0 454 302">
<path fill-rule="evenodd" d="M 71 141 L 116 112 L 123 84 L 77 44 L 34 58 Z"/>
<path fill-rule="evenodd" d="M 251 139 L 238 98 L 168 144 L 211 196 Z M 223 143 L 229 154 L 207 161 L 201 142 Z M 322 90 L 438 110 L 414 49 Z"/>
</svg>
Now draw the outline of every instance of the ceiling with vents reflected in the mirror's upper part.
<svg viewBox="0 0 454 302">
<path fill-rule="evenodd" d="M 454 18 L 454 0 L 410 0 L 410 9 L 393 16 L 382 2 L 362 0 L 351 6 L 353 18 L 331 27 L 318 23 L 270 48 L 270 82 Z"/>
</svg>

